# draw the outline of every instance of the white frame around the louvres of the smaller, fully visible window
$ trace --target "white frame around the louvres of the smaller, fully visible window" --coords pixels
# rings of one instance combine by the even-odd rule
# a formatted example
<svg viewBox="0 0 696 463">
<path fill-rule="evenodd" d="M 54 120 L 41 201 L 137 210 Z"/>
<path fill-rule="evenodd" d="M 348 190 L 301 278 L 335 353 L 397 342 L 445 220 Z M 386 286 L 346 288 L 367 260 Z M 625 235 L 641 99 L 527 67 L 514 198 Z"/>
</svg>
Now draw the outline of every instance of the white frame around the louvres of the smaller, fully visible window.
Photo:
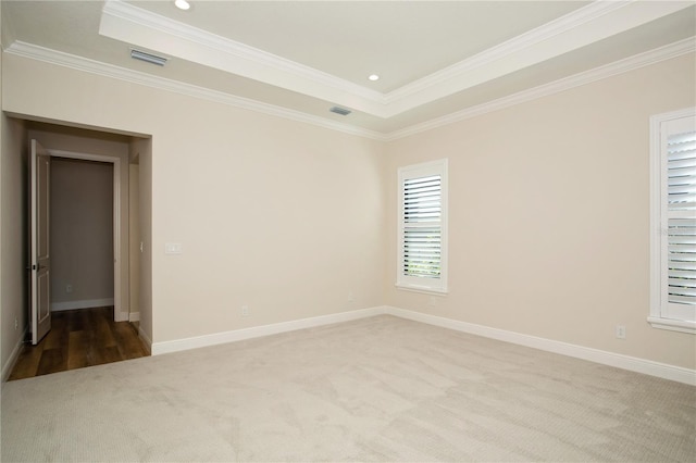
<svg viewBox="0 0 696 463">
<path fill-rule="evenodd" d="M 398 168 L 397 172 L 397 266 L 396 266 L 396 287 L 409 291 L 447 295 L 448 293 L 448 270 L 447 270 L 447 238 L 448 238 L 448 160 L 440 159 L 437 161 L 424 162 L 420 164 L 407 165 Z M 417 277 L 403 274 L 405 265 L 405 230 L 407 222 L 403 215 L 403 197 L 405 182 L 409 179 L 430 177 L 439 175 L 440 177 L 440 262 L 439 277 Z M 432 224 L 435 224 L 433 222 Z M 431 226 L 433 226 L 431 224 Z"/>
</svg>

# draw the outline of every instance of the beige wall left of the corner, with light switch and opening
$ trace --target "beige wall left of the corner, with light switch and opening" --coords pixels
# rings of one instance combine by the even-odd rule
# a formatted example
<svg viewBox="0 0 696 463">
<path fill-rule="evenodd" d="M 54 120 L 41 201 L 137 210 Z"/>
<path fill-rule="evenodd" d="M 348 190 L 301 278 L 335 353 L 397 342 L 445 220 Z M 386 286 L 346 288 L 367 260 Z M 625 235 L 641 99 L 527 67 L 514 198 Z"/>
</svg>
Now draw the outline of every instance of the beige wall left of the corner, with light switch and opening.
<svg viewBox="0 0 696 463">
<path fill-rule="evenodd" d="M 5 110 L 152 136 L 152 341 L 382 303 L 380 142 L 4 58 Z"/>
</svg>

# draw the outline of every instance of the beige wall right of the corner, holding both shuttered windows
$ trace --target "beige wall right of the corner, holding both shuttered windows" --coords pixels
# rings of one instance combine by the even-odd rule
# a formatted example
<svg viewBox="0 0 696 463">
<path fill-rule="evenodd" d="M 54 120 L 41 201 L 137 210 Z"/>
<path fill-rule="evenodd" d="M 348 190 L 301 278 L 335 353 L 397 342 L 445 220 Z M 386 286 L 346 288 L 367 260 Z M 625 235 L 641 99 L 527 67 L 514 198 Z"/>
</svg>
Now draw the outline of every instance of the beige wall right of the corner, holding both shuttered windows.
<svg viewBox="0 0 696 463">
<path fill-rule="evenodd" d="M 695 104 L 683 57 L 391 142 L 398 166 L 449 159 L 450 293 L 386 302 L 458 321 L 696 366 L 694 335 L 651 328 L 648 120 Z M 614 337 L 626 326 L 626 339 Z"/>
</svg>

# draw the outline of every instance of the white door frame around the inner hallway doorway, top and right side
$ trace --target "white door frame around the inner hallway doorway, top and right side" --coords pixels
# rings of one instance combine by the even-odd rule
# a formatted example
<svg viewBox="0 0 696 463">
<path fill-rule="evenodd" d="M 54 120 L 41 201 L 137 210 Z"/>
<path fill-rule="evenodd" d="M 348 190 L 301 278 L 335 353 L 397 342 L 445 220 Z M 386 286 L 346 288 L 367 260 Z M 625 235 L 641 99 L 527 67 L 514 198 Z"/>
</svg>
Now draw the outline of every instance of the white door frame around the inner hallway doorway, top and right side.
<svg viewBox="0 0 696 463">
<path fill-rule="evenodd" d="M 127 322 L 129 311 L 123 312 L 121 300 L 121 158 L 107 154 L 80 153 L 46 148 L 53 158 L 97 161 L 113 164 L 113 320 Z"/>
</svg>

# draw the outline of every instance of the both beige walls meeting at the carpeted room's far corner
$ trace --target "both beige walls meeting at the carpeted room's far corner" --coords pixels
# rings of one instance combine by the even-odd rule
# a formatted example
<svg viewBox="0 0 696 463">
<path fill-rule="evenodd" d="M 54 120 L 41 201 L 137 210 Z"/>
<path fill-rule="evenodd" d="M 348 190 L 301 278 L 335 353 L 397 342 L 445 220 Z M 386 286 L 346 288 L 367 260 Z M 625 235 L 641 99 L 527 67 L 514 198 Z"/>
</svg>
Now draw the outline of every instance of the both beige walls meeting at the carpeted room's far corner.
<svg viewBox="0 0 696 463">
<path fill-rule="evenodd" d="M 152 136 L 140 316 L 154 342 L 387 303 L 696 366 L 693 335 L 646 323 L 648 117 L 694 105 L 693 55 L 389 143 L 4 60 L 5 110 Z M 394 288 L 395 179 L 445 157 L 451 291 L 431 308 Z"/>
</svg>

